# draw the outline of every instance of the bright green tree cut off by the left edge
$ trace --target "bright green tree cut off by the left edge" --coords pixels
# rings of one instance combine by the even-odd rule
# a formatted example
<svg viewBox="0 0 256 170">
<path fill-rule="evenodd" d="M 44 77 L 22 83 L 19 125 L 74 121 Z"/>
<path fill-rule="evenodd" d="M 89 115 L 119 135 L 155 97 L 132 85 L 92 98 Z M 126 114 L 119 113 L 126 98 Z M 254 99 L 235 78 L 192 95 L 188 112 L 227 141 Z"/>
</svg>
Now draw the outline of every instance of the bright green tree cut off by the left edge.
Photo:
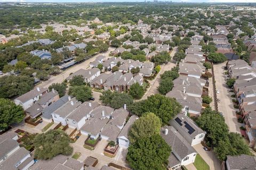
<svg viewBox="0 0 256 170">
<path fill-rule="evenodd" d="M 0 98 L 0 130 L 5 130 L 13 123 L 19 123 L 25 117 L 23 108 L 12 100 Z"/>
</svg>

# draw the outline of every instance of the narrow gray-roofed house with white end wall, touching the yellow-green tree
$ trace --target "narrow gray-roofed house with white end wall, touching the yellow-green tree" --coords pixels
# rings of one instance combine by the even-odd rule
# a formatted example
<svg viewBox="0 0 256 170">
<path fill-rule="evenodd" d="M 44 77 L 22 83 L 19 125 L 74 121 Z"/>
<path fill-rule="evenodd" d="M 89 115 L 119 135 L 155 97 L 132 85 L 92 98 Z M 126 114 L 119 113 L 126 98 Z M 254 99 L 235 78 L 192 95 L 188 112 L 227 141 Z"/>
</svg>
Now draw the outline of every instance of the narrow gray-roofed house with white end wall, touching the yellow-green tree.
<svg viewBox="0 0 256 170">
<path fill-rule="evenodd" d="M 132 124 L 138 119 L 139 117 L 136 115 L 132 115 L 129 118 L 129 121 L 127 121 L 127 123 L 125 124 L 124 128 L 122 129 L 122 131 L 119 133 L 118 135 L 118 143 L 119 143 L 119 147 L 121 148 L 128 148 L 130 141 L 128 139 L 128 132 L 132 126 Z"/>
</svg>

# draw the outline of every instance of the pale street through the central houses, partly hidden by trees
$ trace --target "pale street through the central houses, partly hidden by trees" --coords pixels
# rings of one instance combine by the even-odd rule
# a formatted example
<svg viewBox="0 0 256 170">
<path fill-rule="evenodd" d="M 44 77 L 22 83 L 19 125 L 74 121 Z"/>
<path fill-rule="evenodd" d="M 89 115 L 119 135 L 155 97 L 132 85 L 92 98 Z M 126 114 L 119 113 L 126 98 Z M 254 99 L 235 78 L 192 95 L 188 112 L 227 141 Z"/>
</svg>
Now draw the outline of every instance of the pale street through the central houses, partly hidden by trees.
<svg viewBox="0 0 256 170">
<path fill-rule="evenodd" d="M 177 50 L 177 47 L 173 48 L 173 51 L 171 52 L 171 57 L 174 56 L 175 52 Z M 141 98 L 141 100 L 145 100 L 148 98 L 148 96 L 158 94 L 157 87 L 159 86 L 160 79 L 161 79 L 161 74 L 163 74 L 165 71 L 171 70 L 176 64 L 174 62 L 168 62 L 167 64 L 161 65 L 161 70 L 159 73 L 156 75 L 154 80 L 149 80 L 148 82 L 150 83 L 150 87 L 147 89 L 145 95 Z"/>
</svg>

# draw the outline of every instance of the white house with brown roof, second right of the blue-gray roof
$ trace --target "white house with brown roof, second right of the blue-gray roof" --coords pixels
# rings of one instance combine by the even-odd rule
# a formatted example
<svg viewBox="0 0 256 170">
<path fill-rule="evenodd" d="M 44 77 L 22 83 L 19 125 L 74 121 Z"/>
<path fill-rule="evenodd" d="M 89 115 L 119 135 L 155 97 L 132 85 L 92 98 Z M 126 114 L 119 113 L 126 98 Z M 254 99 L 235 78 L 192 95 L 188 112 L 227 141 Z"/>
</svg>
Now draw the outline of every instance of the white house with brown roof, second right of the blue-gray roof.
<svg viewBox="0 0 256 170">
<path fill-rule="evenodd" d="M 71 114 L 66 118 L 69 128 L 80 130 L 85 124 L 86 120 L 91 117 L 91 112 L 95 107 L 99 106 L 97 102 L 85 101 L 78 106 Z"/>
</svg>

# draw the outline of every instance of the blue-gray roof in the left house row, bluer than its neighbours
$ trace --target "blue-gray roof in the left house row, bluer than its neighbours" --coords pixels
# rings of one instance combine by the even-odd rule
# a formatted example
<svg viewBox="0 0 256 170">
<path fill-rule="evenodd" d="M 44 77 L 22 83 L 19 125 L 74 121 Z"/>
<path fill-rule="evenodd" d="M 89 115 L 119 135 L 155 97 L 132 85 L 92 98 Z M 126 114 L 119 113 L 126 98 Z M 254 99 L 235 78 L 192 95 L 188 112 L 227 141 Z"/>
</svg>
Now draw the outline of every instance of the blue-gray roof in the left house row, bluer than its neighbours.
<svg viewBox="0 0 256 170">
<path fill-rule="evenodd" d="M 63 96 L 59 100 L 55 101 L 55 103 L 51 104 L 50 106 L 43 109 L 43 115 L 41 117 L 51 119 L 52 113 L 60 108 L 62 105 L 68 102 L 68 96 Z"/>
</svg>

